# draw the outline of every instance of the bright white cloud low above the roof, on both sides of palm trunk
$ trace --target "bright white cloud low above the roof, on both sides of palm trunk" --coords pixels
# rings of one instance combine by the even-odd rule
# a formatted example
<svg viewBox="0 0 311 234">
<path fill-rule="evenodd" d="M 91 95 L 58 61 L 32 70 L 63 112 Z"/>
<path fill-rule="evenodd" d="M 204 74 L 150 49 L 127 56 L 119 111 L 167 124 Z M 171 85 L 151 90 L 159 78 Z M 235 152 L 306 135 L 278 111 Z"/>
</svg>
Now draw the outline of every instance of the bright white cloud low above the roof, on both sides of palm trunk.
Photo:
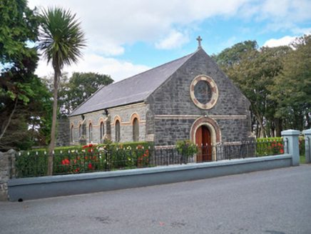
<svg viewBox="0 0 311 234">
<path fill-rule="evenodd" d="M 123 78 L 134 76 L 137 73 L 141 73 L 150 69 L 148 66 L 134 65 L 128 61 L 118 61 L 116 59 L 107 59 L 96 54 L 88 54 L 79 61 L 78 64 L 74 64 L 70 67 L 65 66 L 63 72 L 67 72 L 68 76 L 71 76 L 73 72 L 94 72 L 110 75 L 113 80 L 121 81 Z M 36 69 L 38 76 L 53 76 L 53 68 L 51 64 L 46 64 L 46 61 L 41 59 L 39 66 Z"/>
</svg>

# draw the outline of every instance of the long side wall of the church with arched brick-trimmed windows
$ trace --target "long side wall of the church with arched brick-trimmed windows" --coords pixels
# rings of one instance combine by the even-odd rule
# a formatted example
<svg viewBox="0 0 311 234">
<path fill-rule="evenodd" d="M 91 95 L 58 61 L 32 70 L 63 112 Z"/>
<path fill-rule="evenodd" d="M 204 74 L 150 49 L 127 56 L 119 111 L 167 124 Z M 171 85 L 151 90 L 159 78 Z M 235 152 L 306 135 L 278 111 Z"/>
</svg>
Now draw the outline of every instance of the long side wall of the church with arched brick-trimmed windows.
<svg viewBox="0 0 311 234">
<path fill-rule="evenodd" d="M 70 118 L 71 145 L 146 141 L 146 104 L 136 103 Z"/>
</svg>

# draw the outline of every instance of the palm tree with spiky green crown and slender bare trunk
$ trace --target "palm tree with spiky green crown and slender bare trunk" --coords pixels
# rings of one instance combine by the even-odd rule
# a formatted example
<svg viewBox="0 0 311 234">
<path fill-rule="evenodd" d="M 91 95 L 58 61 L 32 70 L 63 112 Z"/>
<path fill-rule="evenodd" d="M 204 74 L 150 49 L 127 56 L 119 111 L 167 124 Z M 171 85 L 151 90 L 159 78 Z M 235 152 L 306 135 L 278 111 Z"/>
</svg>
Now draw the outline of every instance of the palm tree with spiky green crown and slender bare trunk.
<svg viewBox="0 0 311 234">
<path fill-rule="evenodd" d="M 53 150 L 56 131 L 57 91 L 58 81 L 64 65 L 77 63 L 82 56 L 81 49 L 86 46 L 86 39 L 81 29 L 81 23 L 76 14 L 61 8 L 43 10 L 41 15 L 41 32 L 39 49 L 48 63 L 51 61 L 54 70 L 53 91 L 53 121 L 51 128 L 51 143 L 49 146 L 48 175 L 53 174 Z"/>
</svg>

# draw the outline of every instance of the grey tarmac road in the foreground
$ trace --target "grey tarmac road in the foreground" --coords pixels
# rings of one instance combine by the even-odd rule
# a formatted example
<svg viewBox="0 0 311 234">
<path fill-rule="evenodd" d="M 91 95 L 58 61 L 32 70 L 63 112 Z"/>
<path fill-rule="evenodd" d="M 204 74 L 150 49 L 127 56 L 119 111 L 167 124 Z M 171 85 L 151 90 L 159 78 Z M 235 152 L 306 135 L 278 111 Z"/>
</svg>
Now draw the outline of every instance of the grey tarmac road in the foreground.
<svg viewBox="0 0 311 234">
<path fill-rule="evenodd" d="M 0 202 L 0 233 L 311 233 L 311 165 Z"/>
</svg>

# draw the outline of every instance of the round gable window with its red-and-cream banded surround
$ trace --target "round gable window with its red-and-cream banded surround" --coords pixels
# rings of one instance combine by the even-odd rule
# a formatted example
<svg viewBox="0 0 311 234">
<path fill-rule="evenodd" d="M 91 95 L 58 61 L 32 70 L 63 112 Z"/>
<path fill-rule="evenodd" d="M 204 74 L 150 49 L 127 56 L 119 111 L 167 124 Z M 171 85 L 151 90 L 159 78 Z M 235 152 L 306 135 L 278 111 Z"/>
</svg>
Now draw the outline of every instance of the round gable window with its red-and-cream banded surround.
<svg viewBox="0 0 311 234">
<path fill-rule="evenodd" d="M 212 78 L 205 75 L 197 76 L 190 86 L 190 96 L 196 106 L 210 109 L 218 100 L 218 88 Z"/>
</svg>

